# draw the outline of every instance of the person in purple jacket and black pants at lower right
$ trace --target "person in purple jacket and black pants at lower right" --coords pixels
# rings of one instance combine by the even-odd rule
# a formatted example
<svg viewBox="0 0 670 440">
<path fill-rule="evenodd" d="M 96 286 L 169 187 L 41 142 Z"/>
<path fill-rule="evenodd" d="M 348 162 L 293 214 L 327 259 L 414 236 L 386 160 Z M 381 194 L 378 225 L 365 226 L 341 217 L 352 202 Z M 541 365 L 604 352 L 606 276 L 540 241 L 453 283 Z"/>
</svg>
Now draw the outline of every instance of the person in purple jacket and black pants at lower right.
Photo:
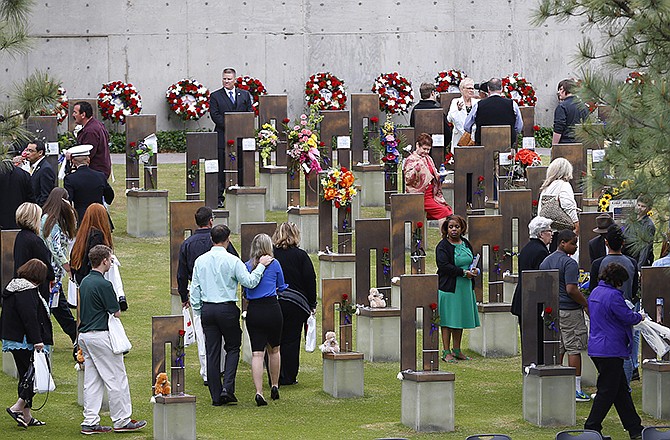
<svg viewBox="0 0 670 440">
<path fill-rule="evenodd" d="M 632 326 L 644 317 L 624 301 L 621 287 L 628 272 L 618 263 L 610 263 L 600 273 L 600 281 L 589 295 L 589 357 L 598 370 L 597 392 L 584 429 L 601 432 L 602 422 L 612 405 L 631 439 L 642 438 L 642 421 L 628 390 L 623 362 L 630 357 Z M 594 280 L 595 281 L 595 280 Z M 610 439 L 604 436 L 604 439 Z"/>
</svg>

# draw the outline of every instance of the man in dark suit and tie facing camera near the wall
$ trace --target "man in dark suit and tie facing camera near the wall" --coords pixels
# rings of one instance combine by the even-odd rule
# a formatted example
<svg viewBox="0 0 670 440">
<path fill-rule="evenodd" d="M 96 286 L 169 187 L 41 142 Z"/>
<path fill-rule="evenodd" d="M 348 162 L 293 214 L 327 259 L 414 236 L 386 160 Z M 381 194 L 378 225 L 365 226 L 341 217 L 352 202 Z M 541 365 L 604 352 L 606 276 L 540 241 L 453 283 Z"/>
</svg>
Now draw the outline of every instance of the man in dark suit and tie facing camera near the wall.
<svg viewBox="0 0 670 440">
<path fill-rule="evenodd" d="M 219 207 L 223 206 L 223 192 L 226 189 L 223 170 L 226 160 L 226 127 L 224 114 L 230 112 L 251 112 L 251 95 L 248 91 L 235 87 L 235 69 L 223 69 L 223 88 L 209 96 L 209 115 L 214 121 L 214 131 L 218 134 L 219 147 Z"/>
</svg>

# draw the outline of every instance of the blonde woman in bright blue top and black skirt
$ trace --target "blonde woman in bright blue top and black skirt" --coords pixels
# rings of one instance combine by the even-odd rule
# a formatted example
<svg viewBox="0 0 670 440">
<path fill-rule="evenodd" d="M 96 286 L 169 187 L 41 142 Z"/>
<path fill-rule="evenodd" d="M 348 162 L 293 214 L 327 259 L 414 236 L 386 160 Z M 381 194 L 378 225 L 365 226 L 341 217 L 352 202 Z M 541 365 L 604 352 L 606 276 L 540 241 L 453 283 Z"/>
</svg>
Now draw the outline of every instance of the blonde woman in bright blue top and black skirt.
<svg viewBox="0 0 670 440">
<path fill-rule="evenodd" d="M 259 264 L 262 256 L 273 256 L 272 240 L 267 234 L 258 234 L 251 241 L 251 259 L 245 264 L 249 272 Z M 251 340 L 251 375 L 256 387 L 256 405 L 265 406 L 263 397 L 263 357 L 268 352 L 272 400 L 279 399 L 279 369 L 281 355 L 279 353 L 283 317 L 277 291 L 285 290 L 284 273 L 277 260 L 273 260 L 265 268 L 263 278 L 253 289 L 244 288 L 244 295 L 249 301 L 247 307 L 247 330 Z"/>
</svg>

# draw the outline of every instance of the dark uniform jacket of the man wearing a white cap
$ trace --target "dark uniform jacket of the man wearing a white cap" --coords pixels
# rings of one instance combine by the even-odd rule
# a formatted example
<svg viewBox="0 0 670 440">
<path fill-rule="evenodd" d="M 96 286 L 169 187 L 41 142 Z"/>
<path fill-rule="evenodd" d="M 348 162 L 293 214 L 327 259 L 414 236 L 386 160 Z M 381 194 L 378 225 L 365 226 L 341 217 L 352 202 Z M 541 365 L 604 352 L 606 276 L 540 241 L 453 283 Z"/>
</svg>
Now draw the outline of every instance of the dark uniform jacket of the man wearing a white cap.
<svg viewBox="0 0 670 440">
<path fill-rule="evenodd" d="M 114 200 L 114 190 L 107 183 L 105 175 L 85 165 L 65 176 L 63 186 L 67 190 L 70 201 L 74 204 L 80 222 L 84 217 L 86 208 L 91 204 L 102 204 L 103 199 L 111 204 Z"/>
</svg>

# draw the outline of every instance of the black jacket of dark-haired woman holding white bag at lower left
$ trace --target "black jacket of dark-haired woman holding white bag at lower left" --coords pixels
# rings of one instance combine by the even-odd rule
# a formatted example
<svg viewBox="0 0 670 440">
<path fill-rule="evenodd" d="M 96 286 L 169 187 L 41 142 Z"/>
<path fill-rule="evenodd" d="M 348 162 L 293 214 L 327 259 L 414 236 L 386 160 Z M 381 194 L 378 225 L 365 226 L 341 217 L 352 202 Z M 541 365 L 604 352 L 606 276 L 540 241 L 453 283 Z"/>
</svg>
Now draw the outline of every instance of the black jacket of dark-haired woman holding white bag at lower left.
<svg viewBox="0 0 670 440">
<path fill-rule="evenodd" d="M 47 283 L 48 284 L 48 283 Z M 53 345 L 53 330 L 38 289 L 23 278 L 14 278 L 2 292 L 0 337 L 8 341 Z"/>
</svg>

